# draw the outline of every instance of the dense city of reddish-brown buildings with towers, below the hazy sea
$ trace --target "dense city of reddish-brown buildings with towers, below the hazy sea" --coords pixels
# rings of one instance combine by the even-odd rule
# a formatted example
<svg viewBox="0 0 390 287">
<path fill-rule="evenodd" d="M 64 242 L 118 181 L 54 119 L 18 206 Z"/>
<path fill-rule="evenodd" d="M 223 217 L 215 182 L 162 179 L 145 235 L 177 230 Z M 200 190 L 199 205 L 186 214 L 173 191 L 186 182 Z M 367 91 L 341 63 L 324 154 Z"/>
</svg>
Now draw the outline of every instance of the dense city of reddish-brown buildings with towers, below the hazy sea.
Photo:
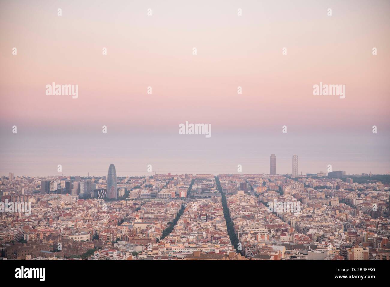
<svg viewBox="0 0 390 287">
<path fill-rule="evenodd" d="M 390 260 L 389 175 L 2 176 L 0 260 Z"/>
</svg>

